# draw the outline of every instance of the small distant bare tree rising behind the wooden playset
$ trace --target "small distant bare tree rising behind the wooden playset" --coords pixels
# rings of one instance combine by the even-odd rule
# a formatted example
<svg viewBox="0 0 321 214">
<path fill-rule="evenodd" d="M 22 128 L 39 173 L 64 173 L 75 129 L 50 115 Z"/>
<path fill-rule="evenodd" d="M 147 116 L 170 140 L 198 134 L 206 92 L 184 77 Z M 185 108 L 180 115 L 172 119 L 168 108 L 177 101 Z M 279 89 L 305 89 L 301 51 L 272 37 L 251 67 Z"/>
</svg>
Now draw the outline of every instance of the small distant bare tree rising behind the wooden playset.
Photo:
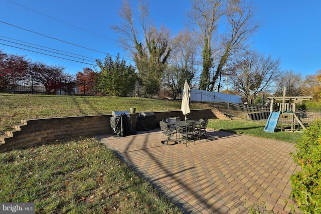
<svg viewBox="0 0 321 214">
<path fill-rule="evenodd" d="M 295 96 L 302 96 L 302 85 L 303 79 L 302 74 L 297 73 L 295 74 L 293 71 L 285 71 L 282 72 L 277 77 L 276 80 L 276 87 L 277 90 L 275 92 L 275 96 L 282 96 L 283 95 L 283 88 L 286 88 L 285 96 L 295 97 Z"/>
</svg>

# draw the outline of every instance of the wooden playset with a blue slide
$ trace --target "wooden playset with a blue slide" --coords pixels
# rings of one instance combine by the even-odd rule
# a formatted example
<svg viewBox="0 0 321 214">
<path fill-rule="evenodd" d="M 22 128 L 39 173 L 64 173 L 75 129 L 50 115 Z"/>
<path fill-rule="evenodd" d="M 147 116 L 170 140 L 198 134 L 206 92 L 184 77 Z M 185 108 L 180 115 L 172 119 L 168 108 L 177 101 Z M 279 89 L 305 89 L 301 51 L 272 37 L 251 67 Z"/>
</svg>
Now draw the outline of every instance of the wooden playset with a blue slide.
<svg viewBox="0 0 321 214">
<path fill-rule="evenodd" d="M 283 89 L 283 97 L 267 97 L 270 99 L 270 115 L 267 119 L 265 132 L 274 132 L 278 120 L 281 118 L 281 131 L 294 132 L 295 125 L 298 124 L 302 129 L 306 129 L 300 117 L 299 113 L 295 110 L 297 101 L 311 100 L 312 97 L 285 97 L 285 88 Z M 282 103 L 276 103 L 276 100 L 282 100 Z M 287 103 L 285 103 L 285 101 Z"/>
</svg>

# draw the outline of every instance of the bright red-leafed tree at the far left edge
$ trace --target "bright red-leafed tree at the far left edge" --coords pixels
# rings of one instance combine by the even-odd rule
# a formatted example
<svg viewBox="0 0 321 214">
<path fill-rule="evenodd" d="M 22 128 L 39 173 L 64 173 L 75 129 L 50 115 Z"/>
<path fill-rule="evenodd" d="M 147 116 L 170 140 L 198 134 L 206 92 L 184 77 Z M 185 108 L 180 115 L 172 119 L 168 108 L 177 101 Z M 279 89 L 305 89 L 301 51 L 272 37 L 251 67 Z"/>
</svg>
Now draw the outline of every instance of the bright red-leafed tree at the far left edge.
<svg viewBox="0 0 321 214">
<path fill-rule="evenodd" d="M 29 64 L 25 56 L 6 54 L 0 50 L 0 92 L 20 81 L 28 73 Z"/>
</svg>

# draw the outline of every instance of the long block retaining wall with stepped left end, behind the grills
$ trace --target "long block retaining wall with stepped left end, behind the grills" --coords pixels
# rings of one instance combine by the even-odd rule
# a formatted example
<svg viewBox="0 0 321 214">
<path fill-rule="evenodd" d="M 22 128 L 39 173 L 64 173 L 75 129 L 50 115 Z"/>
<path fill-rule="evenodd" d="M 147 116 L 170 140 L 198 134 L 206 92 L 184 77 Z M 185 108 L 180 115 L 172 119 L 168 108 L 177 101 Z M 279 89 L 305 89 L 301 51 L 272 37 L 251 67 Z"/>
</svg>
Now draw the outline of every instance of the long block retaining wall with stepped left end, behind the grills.
<svg viewBox="0 0 321 214">
<path fill-rule="evenodd" d="M 156 116 L 155 121 L 172 116 L 185 118 L 181 111 L 153 113 Z M 130 114 L 134 129 L 136 128 L 137 114 Z M 22 124 L 13 127 L 14 130 L 6 131 L 5 136 L 0 136 L 0 152 L 41 145 L 55 140 L 112 133 L 110 117 L 111 115 L 93 115 L 23 120 Z M 189 120 L 199 120 L 200 118 L 212 119 L 217 117 L 211 109 L 192 110 L 188 114 Z"/>
</svg>

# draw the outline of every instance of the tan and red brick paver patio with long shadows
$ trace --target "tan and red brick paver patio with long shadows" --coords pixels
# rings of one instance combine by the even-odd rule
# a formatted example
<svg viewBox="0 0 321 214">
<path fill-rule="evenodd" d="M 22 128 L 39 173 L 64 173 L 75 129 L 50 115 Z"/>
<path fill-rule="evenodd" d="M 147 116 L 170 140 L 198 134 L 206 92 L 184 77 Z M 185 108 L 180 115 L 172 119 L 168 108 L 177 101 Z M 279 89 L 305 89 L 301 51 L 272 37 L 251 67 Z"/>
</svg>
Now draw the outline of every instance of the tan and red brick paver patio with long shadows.
<svg viewBox="0 0 321 214">
<path fill-rule="evenodd" d="M 248 213 L 263 201 L 275 213 L 290 213 L 289 177 L 299 170 L 289 155 L 293 144 L 215 130 L 208 134 L 209 140 L 189 141 L 187 147 L 161 143 L 160 129 L 99 139 L 186 213 Z"/>
</svg>

